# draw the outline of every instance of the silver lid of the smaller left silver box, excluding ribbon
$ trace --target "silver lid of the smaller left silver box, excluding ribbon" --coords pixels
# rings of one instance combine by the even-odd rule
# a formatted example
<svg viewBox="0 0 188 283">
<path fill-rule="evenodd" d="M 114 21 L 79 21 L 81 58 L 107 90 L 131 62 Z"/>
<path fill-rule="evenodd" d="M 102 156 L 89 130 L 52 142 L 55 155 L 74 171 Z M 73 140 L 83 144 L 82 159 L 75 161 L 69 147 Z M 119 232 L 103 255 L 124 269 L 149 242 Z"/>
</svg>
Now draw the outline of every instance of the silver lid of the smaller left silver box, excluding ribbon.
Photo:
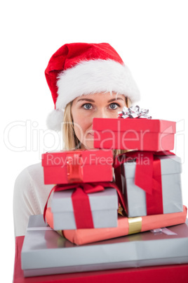
<svg viewBox="0 0 188 283">
<path fill-rule="evenodd" d="M 73 191 L 74 189 L 55 191 L 51 199 L 51 211 L 53 213 L 73 211 L 71 198 Z M 88 197 L 92 211 L 118 209 L 118 196 L 116 189 L 107 188 L 105 191 L 88 194 Z"/>
</svg>

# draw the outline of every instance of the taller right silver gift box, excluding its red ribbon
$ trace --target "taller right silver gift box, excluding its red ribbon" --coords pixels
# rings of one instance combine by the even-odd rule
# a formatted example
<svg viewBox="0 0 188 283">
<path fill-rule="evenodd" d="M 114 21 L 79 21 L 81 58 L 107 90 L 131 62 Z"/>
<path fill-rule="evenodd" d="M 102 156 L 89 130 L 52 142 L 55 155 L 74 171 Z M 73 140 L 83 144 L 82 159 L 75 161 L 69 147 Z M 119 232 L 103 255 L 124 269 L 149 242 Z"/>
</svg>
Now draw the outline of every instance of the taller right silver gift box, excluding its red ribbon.
<svg viewBox="0 0 188 283">
<path fill-rule="evenodd" d="M 161 182 L 163 213 L 177 213 L 183 210 L 181 187 L 181 159 L 177 156 L 158 156 L 161 160 Z M 135 161 L 121 165 L 121 184 L 125 196 L 128 217 L 147 215 L 146 193 L 135 185 Z"/>
</svg>

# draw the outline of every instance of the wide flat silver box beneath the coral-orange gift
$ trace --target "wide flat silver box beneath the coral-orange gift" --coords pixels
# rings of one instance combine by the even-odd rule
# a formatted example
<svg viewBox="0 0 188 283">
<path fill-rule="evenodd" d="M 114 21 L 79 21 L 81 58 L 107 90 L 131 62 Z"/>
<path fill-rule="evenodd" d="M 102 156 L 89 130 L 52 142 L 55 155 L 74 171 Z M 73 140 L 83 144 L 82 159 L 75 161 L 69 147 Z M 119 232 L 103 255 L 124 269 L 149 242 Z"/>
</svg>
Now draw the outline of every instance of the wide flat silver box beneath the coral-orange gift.
<svg viewBox="0 0 188 283">
<path fill-rule="evenodd" d="M 188 263 L 188 221 L 168 227 L 173 235 L 142 232 L 76 246 L 32 215 L 22 246 L 25 277 L 90 270 Z"/>
</svg>

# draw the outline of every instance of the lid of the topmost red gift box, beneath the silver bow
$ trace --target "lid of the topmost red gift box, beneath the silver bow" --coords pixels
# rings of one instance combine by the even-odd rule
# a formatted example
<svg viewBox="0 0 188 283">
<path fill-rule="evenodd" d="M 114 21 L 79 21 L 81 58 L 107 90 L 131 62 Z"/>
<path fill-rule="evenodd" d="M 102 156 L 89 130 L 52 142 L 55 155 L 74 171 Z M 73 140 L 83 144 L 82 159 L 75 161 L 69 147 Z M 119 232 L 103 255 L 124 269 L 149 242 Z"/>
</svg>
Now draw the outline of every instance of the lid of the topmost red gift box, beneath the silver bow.
<svg viewBox="0 0 188 283">
<path fill-rule="evenodd" d="M 163 132 L 174 134 L 175 122 L 156 119 L 131 119 L 131 118 L 93 118 L 93 130 L 112 130 L 114 132 L 125 132 L 128 130 Z"/>
</svg>

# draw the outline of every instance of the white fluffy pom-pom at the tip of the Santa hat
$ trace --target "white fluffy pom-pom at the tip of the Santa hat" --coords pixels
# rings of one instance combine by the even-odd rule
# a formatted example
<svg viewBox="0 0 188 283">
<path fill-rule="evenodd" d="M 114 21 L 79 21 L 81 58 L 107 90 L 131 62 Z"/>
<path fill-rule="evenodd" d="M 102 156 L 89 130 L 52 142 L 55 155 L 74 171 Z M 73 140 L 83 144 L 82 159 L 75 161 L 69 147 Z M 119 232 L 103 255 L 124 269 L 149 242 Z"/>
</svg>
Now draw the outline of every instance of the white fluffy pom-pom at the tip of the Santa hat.
<svg viewBox="0 0 188 283">
<path fill-rule="evenodd" d="M 55 131 L 60 131 L 62 130 L 62 122 L 63 122 L 63 115 L 64 111 L 60 109 L 55 109 L 53 110 L 49 115 L 46 120 L 46 125 L 48 129 L 50 130 L 55 130 Z"/>
</svg>

